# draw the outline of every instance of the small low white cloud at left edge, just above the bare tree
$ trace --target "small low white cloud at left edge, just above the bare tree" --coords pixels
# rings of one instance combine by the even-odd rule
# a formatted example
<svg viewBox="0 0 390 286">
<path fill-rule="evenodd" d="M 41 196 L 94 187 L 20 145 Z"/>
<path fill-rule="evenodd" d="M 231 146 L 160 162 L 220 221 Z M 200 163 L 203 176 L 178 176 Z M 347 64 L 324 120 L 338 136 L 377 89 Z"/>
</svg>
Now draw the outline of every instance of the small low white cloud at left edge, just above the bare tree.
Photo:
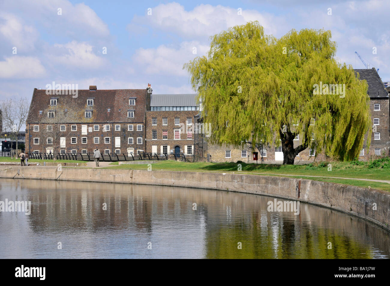
<svg viewBox="0 0 390 286">
<path fill-rule="evenodd" d="M 46 73 L 36 57 L 12 56 L 0 62 L 0 78 L 39 78 Z"/>
</svg>

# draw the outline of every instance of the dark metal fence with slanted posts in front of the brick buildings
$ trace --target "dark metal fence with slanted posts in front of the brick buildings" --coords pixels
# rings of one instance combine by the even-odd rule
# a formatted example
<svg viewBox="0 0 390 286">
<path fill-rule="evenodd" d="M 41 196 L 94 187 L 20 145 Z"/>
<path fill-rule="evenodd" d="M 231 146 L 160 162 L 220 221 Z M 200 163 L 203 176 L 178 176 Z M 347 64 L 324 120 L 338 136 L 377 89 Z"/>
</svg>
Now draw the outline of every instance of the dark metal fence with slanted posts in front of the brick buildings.
<svg viewBox="0 0 390 286">
<path fill-rule="evenodd" d="M 30 159 L 42 159 L 42 160 L 53 160 L 52 153 L 27 153 Z M 94 161 L 94 153 L 58 153 L 55 158 L 57 160 L 78 160 L 78 161 Z M 146 153 L 142 152 L 139 154 L 132 153 L 112 153 L 112 154 L 101 154 L 100 160 L 103 162 L 118 162 L 118 161 L 137 161 L 137 160 L 176 160 L 183 162 L 194 162 L 193 155 L 180 154 L 167 154 L 167 153 Z"/>
</svg>

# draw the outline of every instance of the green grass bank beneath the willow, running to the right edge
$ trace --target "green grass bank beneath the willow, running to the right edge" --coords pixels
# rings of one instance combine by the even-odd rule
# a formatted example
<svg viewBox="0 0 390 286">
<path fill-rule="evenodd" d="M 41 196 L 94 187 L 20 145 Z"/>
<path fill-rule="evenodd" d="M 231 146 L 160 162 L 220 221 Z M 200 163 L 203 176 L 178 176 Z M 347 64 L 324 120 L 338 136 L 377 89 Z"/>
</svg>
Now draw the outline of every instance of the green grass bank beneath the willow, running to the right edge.
<svg viewBox="0 0 390 286">
<path fill-rule="evenodd" d="M 306 178 L 317 181 L 340 183 L 353 185 L 358 187 L 370 186 L 378 190 L 390 191 L 390 184 L 373 181 L 361 181 L 353 179 L 338 179 L 338 178 L 314 178 L 307 176 L 320 177 L 340 177 L 340 178 L 364 178 L 390 181 L 390 159 L 385 159 L 383 162 L 330 162 L 332 171 L 328 171 L 328 162 L 311 163 L 308 165 L 271 165 L 271 164 L 247 164 L 241 162 L 241 172 L 243 173 L 258 173 L 264 175 L 280 176 L 278 174 L 293 175 L 292 177 Z M 116 164 L 114 164 L 116 163 Z M 147 169 L 147 164 L 137 165 L 117 165 L 114 162 L 108 169 Z M 371 164 L 371 165 L 370 165 Z M 371 167 L 372 165 L 378 165 Z M 207 162 L 177 162 L 177 161 L 161 161 L 152 164 L 154 170 L 168 171 L 206 171 L 206 172 L 238 172 L 238 163 L 207 163 Z"/>
</svg>

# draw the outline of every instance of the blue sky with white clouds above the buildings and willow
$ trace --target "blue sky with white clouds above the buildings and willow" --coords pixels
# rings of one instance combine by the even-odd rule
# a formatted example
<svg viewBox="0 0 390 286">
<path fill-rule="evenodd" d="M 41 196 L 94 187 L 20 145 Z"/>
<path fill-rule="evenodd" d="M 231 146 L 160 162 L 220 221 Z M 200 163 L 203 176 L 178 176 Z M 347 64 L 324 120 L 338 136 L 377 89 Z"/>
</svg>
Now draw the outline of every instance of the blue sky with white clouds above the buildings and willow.
<svg viewBox="0 0 390 286">
<path fill-rule="evenodd" d="M 356 51 L 390 81 L 389 11 L 390 0 L 0 0 L 0 100 L 52 82 L 194 93 L 183 64 L 207 54 L 210 36 L 255 20 L 277 38 L 330 30 L 341 63 L 365 68 Z"/>
</svg>

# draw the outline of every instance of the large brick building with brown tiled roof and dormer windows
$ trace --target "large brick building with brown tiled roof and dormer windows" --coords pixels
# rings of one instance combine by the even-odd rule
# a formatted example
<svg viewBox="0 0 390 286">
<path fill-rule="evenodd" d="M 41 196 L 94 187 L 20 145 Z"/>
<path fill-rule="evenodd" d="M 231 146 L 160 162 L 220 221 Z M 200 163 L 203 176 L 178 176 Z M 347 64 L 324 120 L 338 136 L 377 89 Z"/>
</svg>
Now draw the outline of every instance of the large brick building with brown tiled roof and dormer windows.
<svg viewBox="0 0 390 286">
<path fill-rule="evenodd" d="M 147 89 L 34 89 L 26 121 L 26 151 L 35 153 L 138 153 L 145 151 Z M 54 94 L 54 95 L 53 95 Z"/>
</svg>

